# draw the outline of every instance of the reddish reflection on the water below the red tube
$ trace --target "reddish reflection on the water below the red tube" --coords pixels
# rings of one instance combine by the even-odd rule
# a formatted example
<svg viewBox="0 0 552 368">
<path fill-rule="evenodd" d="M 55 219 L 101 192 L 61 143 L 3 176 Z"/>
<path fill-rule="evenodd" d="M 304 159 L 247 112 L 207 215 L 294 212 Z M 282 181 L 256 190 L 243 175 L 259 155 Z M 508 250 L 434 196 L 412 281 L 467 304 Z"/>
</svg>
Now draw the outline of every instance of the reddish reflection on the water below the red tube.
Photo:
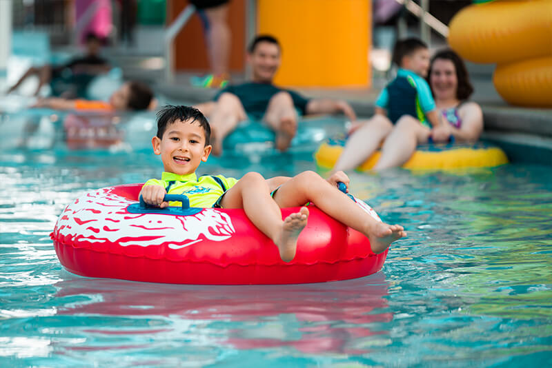
<svg viewBox="0 0 552 368">
<path fill-rule="evenodd" d="M 197 340 L 199 333 L 200 345 L 359 354 L 366 351 L 358 347 L 362 339 L 388 334 L 380 323 L 393 316 L 385 310 L 388 284 L 381 272 L 306 285 L 158 285 L 74 276 L 54 286 L 63 300 L 58 316 L 97 321 L 82 327 L 85 336 Z M 101 323 L 99 316 L 109 318 Z M 132 323 L 121 322 L 129 318 Z"/>
</svg>

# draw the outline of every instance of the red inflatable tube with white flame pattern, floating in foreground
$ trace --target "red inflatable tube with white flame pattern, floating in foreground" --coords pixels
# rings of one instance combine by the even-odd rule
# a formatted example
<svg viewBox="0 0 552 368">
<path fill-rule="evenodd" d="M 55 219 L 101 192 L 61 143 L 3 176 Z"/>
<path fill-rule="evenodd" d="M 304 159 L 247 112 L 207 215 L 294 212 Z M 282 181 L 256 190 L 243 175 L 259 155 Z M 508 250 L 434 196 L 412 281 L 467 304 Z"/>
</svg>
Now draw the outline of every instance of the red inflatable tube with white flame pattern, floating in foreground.
<svg viewBox="0 0 552 368">
<path fill-rule="evenodd" d="M 135 213 L 141 186 L 88 192 L 63 210 L 50 234 L 63 267 L 81 276 L 152 283 L 291 284 L 367 276 L 387 256 L 373 254 L 365 236 L 311 206 L 297 254 L 285 263 L 242 209 Z M 297 211 L 284 208 L 282 218 Z"/>
</svg>

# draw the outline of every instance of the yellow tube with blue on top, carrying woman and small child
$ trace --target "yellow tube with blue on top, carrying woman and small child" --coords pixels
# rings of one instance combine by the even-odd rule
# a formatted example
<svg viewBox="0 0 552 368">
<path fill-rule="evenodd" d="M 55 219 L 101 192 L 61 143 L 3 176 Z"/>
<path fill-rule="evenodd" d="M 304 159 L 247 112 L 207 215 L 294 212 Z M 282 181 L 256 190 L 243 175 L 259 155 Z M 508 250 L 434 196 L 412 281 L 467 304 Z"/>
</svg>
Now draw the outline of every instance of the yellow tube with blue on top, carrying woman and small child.
<svg viewBox="0 0 552 368">
<path fill-rule="evenodd" d="M 343 151 L 344 141 L 329 140 L 315 152 L 315 161 L 319 167 L 331 169 Z M 362 165 L 359 171 L 374 167 L 380 159 L 375 152 Z M 411 158 L 402 165 L 410 170 L 450 170 L 471 167 L 494 167 L 508 163 L 508 158 L 499 147 L 475 143 L 475 145 L 424 145 L 418 147 Z"/>
</svg>

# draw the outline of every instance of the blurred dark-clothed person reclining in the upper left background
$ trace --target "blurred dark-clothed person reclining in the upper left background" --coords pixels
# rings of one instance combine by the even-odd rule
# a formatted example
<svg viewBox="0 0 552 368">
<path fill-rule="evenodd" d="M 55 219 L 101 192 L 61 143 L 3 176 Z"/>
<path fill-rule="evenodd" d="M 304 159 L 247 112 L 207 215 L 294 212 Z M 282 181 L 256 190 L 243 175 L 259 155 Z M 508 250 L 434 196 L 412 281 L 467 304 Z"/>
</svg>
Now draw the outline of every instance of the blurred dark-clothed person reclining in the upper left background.
<svg viewBox="0 0 552 368">
<path fill-rule="evenodd" d="M 47 64 L 29 68 L 19 81 L 12 85 L 8 93 L 16 90 L 29 76 L 37 75 L 39 85 L 34 92 L 35 96 L 45 83 L 50 83 L 54 96 L 82 97 L 88 83 L 98 74 L 106 73 L 111 68 L 106 59 L 99 57 L 100 48 L 101 40 L 95 34 L 89 33 L 86 35 L 86 54 L 83 57 L 75 57 L 63 65 Z"/>
</svg>

